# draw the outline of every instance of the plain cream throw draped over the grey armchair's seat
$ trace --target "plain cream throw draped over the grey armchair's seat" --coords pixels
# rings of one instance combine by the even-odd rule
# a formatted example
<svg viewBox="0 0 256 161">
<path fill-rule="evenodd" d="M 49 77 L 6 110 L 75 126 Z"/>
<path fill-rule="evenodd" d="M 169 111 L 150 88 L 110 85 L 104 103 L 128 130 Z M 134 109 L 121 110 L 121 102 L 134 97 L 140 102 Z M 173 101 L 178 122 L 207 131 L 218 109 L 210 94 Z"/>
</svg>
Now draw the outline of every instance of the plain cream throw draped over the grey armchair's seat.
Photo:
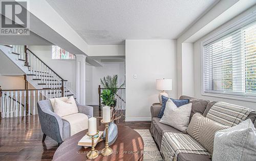
<svg viewBox="0 0 256 161">
<path fill-rule="evenodd" d="M 75 135 L 77 132 L 88 129 L 88 117 L 85 114 L 76 113 L 64 116 L 61 119 L 66 120 L 70 124 L 70 136 Z"/>
</svg>

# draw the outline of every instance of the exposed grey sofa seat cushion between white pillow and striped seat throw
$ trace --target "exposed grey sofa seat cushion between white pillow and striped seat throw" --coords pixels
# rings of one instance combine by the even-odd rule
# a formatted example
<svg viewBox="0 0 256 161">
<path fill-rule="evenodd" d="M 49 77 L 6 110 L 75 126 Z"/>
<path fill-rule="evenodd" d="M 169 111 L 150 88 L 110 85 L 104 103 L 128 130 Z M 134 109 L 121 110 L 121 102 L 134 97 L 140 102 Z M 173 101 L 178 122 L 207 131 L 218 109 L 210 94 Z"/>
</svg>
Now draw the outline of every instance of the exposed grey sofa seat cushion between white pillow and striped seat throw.
<svg viewBox="0 0 256 161">
<path fill-rule="evenodd" d="M 163 132 L 166 132 L 166 131 L 182 133 L 182 131 L 180 131 L 172 126 L 162 124 L 159 121 L 160 121 L 160 118 L 158 118 L 158 117 L 152 118 L 152 122 L 153 122 L 154 126 L 156 127 L 159 135 L 163 136 Z"/>
</svg>

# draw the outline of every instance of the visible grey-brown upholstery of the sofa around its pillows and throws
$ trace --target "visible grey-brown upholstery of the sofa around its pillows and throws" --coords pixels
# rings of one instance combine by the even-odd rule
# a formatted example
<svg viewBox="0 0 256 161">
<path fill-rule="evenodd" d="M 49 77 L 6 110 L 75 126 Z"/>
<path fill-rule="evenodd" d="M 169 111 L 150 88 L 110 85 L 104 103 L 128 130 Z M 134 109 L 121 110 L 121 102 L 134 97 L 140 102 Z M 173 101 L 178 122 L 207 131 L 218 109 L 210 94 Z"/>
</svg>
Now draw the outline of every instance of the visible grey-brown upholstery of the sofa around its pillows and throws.
<svg viewBox="0 0 256 161">
<path fill-rule="evenodd" d="M 192 103 L 192 109 L 190 114 L 190 119 L 195 113 L 200 113 L 204 117 L 209 112 L 212 105 L 216 103 L 216 101 L 208 101 L 208 100 L 202 100 L 202 99 L 196 99 L 188 96 L 181 96 L 179 99 L 189 99 L 189 103 Z M 182 131 L 179 131 L 178 129 L 162 124 L 159 122 L 160 118 L 158 118 L 158 115 L 161 110 L 161 105 L 153 105 L 151 106 L 151 115 L 152 115 L 152 123 L 151 123 L 151 135 L 153 136 L 154 140 L 156 141 L 158 147 L 161 147 L 162 137 L 165 132 L 176 132 L 176 133 L 182 133 Z M 246 119 L 251 119 L 251 121 L 254 124 L 254 127 L 256 127 L 256 112 L 250 112 L 250 114 L 247 116 Z M 179 153 L 178 160 L 211 160 L 208 155 L 201 155 L 201 154 L 191 154 L 191 153 Z"/>
</svg>

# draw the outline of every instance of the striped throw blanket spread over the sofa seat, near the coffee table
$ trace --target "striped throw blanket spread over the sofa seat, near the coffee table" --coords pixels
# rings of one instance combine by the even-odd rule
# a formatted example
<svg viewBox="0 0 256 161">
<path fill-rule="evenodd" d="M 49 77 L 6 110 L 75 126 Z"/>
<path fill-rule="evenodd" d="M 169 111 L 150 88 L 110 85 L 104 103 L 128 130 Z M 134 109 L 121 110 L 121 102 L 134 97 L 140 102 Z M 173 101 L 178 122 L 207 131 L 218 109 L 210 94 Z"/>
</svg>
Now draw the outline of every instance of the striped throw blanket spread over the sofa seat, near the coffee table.
<svg viewBox="0 0 256 161">
<path fill-rule="evenodd" d="M 194 138 L 184 133 L 165 132 L 160 149 L 164 160 L 177 160 L 179 153 L 210 155 Z"/>
</svg>

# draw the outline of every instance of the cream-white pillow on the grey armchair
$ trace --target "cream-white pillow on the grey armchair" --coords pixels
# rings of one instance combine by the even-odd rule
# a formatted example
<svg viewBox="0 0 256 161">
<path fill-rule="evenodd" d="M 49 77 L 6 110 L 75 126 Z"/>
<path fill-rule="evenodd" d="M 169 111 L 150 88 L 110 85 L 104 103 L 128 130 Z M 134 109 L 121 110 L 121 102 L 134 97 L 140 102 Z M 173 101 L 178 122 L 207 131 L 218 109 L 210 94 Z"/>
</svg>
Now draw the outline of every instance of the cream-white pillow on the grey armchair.
<svg viewBox="0 0 256 161">
<path fill-rule="evenodd" d="M 60 117 L 78 113 L 74 97 L 71 96 L 66 102 L 60 99 L 55 99 L 53 111 Z"/>
</svg>

